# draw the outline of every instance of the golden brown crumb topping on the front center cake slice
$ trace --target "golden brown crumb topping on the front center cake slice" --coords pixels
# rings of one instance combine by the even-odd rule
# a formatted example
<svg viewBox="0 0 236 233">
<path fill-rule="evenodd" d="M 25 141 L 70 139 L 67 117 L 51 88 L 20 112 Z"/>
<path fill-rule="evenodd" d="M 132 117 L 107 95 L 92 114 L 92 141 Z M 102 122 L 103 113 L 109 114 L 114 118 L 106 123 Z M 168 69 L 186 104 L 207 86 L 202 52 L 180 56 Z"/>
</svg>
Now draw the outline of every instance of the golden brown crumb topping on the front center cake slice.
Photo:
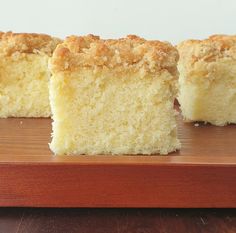
<svg viewBox="0 0 236 233">
<path fill-rule="evenodd" d="M 166 69 L 176 72 L 177 50 L 168 42 L 147 41 L 134 35 L 117 40 L 98 36 L 70 36 L 57 46 L 51 59 L 53 71 L 81 67 L 121 69 L 145 68 L 150 72 Z"/>
</svg>

